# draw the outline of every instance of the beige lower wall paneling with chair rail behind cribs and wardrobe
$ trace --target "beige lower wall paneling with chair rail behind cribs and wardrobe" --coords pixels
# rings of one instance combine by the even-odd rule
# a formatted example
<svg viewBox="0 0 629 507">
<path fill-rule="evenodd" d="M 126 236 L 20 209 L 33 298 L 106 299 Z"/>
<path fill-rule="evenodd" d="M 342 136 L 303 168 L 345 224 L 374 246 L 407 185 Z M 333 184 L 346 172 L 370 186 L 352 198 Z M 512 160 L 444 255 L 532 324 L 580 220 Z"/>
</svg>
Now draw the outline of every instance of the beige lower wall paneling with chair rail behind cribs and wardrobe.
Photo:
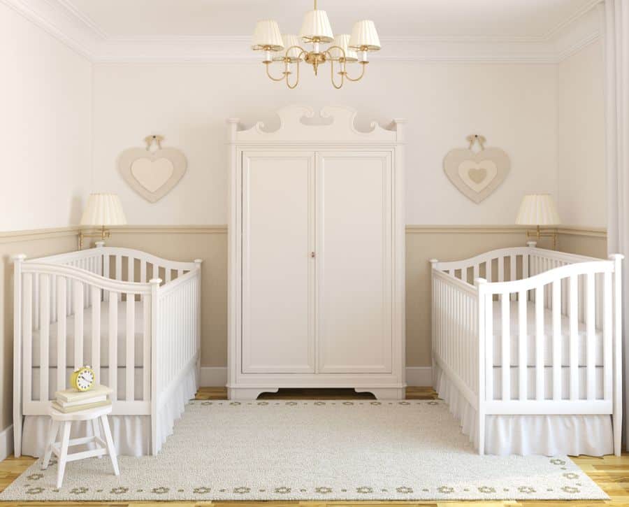
<svg viewBox="0 0 629 507">
<path fill-rule="evenodd" d="M 407 366 L 431 365 L 430 266 L 429 259 L 461 259 L 486 250 L 522 245 L 524 229 L 514 226 L 409 225 L 406 235 Z M 78 247 L 77 227 L 20 231 L 0 234 L 3 269 L 0 282 L 0 429 L 11 424 L 13 391 L 13 266 L 10 256 L 25 253 L 40 257 L 68 252 Z M 201 364 L 222 369 L 227 363 L 227 229 L 219 226 L 127 226 L 113 229 L 110 246 L 138 248 L 168 259 L 203 259 L 203 322 Z M 549 243 L 542 244 L 547 246 Z M 563 227 L 559 247 L 567 252 L 605 257 L 607 241 L 603 229 Z"/>
</svg>

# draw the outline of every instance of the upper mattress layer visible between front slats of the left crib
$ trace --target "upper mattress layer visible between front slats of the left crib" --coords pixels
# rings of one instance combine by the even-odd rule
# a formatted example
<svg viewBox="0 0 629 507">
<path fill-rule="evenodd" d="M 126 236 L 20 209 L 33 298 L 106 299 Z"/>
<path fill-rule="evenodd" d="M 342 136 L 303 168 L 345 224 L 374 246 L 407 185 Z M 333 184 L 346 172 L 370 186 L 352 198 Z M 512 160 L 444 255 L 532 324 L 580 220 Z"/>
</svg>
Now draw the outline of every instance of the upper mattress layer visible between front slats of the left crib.
<svg viewBox="0 0 629 507">
<path fill-rule="evenodd" d="M 118 301 L 118 326 L 117 326 L 117 366 L 126 365 L 126 301 Z M 134 302 L 134 336 L 133 336 L 133 363 L 135 366 L 143 366 L 144 351 L 144 322 L 143 303 Z M 66 317 L 66 366 L 74 364 L 74 315 Z M 101 368 L 109 366 L 109 301 L 101 301 Z M 50 336 L 48 338 L 48 365 L 57 366 L 57 341 L 59 336 L 58 324 L 50 324 Z M 33 366 L 41 366 L 41 332 L 33 331 Z M 83 360 L 81 364 L 92 365 L 92 307 L 83 311 Z M 95 365 L 92 365 L 95 366 Z"/>
</svg>

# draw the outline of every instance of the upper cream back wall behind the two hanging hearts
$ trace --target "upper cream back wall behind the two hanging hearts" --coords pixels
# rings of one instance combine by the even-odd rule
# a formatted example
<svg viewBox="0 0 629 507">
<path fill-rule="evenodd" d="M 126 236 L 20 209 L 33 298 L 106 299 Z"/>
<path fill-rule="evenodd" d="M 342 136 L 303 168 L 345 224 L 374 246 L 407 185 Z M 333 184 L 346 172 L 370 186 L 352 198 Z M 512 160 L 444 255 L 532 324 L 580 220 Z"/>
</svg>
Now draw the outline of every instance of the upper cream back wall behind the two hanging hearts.
<svg viewBox="0 0 629 507">
<path fill-rule="evenodd" d="M 327 70 L 327 69 L 325 69 Z M 406 117 L 407 222 L 508 224 L 526 192 L 556 192 L 556 67 L 544 64 L 373 62 L 360 83 L 333 90 L 328 73 L 302 72 L 287 90 L 261 64 L 96 64 L 94 187 L 117 192 L 135 224 L 224 224 L 225 124 L 268 117 L 287 103 L 347 105 L 363 125 Z M 270 118 L 270 123 L 273 123 Z M 486 136 L 503 148 L 512 171 L 480 205 L 456 190 L 442 169 L 465 136 Z M 150 204 L 124 183 L 116 158 L 148 134 L 181 148 L 189 169 L 178 187 Z"/>
</svg>

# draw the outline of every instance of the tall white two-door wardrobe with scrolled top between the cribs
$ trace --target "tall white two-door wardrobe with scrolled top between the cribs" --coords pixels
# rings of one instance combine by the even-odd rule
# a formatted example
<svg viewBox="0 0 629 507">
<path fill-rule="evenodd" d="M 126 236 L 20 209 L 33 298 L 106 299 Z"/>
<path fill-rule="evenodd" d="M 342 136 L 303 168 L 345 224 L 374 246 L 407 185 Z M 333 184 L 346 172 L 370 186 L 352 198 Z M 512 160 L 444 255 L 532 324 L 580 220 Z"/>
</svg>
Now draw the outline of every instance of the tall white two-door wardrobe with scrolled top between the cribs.
<svg viewBox="0 0 629 507">
<path fill-rule="evenodd" d="M 289 106 L 228 120 L 228 396 L 405 387 L 403 120 Z"/>
</svg>

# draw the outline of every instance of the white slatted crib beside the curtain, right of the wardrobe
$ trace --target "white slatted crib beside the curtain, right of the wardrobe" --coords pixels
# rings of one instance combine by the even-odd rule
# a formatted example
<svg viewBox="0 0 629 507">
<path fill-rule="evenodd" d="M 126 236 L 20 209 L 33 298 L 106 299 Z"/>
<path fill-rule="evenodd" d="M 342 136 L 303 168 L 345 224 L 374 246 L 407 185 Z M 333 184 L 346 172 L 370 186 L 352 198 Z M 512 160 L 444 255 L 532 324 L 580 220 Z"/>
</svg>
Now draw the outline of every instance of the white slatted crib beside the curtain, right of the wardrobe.
<svg viewBox="0 0 629 507">
<path fill-rule="evenodd" d="M 544 454 L 620 455 L 621 259 L 528 243 L 431 261 L 433 380 L 479 454 L 526 453 L 509 438 L 535 426 L 530 438 L 551 428 L 547 447 L 532 445 Z M 561 416 L 572 419 L 552 434 Z M 557 434 L 579 424 L 598 441 Z"/>
</svg>

